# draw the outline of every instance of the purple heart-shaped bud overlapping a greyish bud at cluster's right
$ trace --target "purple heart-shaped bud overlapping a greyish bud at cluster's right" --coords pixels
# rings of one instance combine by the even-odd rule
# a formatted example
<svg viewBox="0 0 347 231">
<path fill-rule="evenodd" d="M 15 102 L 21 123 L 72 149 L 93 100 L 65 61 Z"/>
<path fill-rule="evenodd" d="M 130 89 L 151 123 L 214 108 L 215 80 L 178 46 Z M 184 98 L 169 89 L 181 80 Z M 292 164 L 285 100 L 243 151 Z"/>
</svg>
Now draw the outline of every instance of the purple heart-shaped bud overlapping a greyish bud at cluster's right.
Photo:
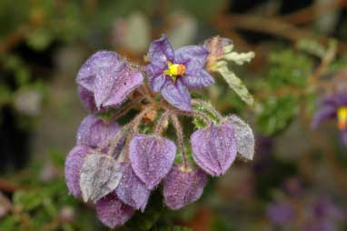
<svg viewBox="0 0 347 231">
<path fill-rule="evenodd" d="M 223 175 L 236 157 L 236 139 L 228 122 L 207 126 L 191 136 L 193 159 L 212 176 Z"/>
</svg>

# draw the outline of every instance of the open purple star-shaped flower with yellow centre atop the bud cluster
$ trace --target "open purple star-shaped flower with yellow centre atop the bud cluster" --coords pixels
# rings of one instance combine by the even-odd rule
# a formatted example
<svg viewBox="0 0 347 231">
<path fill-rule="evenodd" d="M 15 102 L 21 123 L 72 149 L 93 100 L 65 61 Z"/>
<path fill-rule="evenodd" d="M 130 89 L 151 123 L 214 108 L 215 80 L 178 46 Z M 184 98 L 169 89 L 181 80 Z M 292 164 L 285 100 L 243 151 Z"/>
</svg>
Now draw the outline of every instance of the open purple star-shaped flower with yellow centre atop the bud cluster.
<svg viewBox="0 0 347 231">
<path fill-rule="evenodd" d="M 164 99 L 183 111 L 193 111 L 188 87 L 197 88 L 214 83 L 204 70 L 208 51 L 200 45 L 187 45 L 173 51 L 165 35 L 149 48 L 151 64 L 146 66 L 150 86 Z"/>
</svg>

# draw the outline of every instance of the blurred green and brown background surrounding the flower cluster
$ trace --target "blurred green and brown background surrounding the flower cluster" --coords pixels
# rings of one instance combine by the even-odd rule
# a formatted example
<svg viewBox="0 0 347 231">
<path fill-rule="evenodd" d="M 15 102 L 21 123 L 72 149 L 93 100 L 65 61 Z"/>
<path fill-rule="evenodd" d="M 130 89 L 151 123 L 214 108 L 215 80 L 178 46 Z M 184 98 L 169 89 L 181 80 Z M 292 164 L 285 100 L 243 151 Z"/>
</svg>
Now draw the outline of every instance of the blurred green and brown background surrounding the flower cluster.
<svg viewBox="0 0 347 231">
<path fill-rule="evenodd" d="M 64 185 L 87 115 L 74 78 L 100 49 L 144 64 L 163 33 L 174 47 L 221 35 L 255 52 L 233 66 L 253 107 L 218 78 L 203 92 L 250 123 L 255 158 L 213 179 L 197 203 L 152 203 L 117 230 L 347 230 L 347 149 L 336 121 L 311 129 L 319 98 L 347 92 L 347 1 L 0 0 L 0 231 L 108 230 Z"/>
</svg>

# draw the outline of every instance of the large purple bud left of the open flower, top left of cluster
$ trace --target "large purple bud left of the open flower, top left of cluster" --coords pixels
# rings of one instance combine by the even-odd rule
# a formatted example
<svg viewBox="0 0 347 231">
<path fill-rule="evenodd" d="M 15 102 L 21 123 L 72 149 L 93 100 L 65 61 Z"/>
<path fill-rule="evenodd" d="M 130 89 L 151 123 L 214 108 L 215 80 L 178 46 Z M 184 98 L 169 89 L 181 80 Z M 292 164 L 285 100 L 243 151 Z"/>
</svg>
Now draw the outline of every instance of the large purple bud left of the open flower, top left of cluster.
<svg viewBox="0 0 347 231">
<path fill-rule="evenodd" d="M 111 51 L 99 51 L 82 65 L 76 82 L 81 99 L 91 111 L 104 111 L 124 102 L 144 77 Z"/>
</svg>

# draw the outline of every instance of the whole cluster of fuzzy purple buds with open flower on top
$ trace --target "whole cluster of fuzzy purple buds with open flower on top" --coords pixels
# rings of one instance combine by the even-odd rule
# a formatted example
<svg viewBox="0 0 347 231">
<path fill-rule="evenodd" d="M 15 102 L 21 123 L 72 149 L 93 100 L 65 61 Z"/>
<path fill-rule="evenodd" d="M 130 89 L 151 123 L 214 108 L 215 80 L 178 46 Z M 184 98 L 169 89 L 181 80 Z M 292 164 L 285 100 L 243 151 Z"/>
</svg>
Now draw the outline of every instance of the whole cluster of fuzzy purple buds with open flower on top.
<svg viewBox="0 0 347 231">
<path fill-rule="evenodd" d="M 164 204 L 177 210 L 202 196 L 208 176 L 225 174 L 237 155 L 253 159 L 250 126 L 189 93 L 214 83 L 213 62 L 223 59 L 226 45 L 231 41 L 215 37 L 174 51 L 163 35 L 150 45 L 148 65 L 100 51 L 81 67 L 76 82 L 91 115 L 66 157 L 65 179 L 73 196 L 94 203 L 105 226 L 122 226 L 136 210 L 144 212 L 160 184 Z M 134 115 L 130 110 L 137 114 L 120 126 L 119 118 Z M 182 116 L 201 121 L 190 142 Z M 172 139 L 164 136 L 170 124 Z"/>
</svg>

